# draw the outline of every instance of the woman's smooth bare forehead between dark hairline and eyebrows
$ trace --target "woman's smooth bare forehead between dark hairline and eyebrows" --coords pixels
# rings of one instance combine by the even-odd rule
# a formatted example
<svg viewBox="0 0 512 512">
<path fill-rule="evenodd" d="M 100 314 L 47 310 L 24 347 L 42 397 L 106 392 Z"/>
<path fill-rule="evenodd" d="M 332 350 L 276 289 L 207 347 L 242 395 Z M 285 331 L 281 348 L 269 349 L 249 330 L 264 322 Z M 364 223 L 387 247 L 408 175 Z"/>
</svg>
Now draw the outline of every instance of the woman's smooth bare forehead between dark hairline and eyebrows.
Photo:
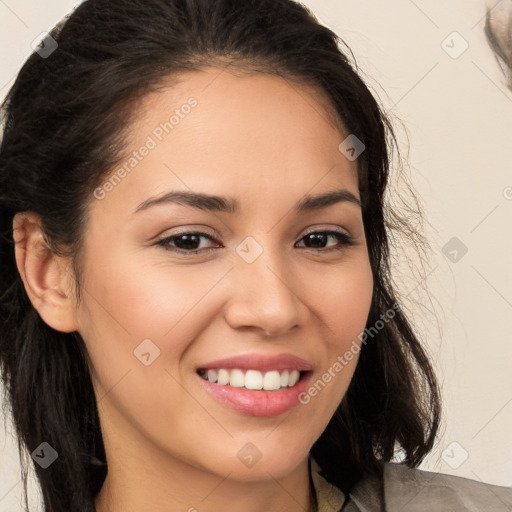
<svg viewBox="0 0 512 512">
<path fill-rule="evenodd" d="M 159 191 L 226 186 L 297 198 L 316 184 L 357 192 L 357 164 L 338 149 L 347 133 L 329 108 L 321 91 L 280 76 L 222 68 L 173 76 L 136 107 L 117 166 L 125 177 L 109 200 L 136 206 Z"/>
</svg>

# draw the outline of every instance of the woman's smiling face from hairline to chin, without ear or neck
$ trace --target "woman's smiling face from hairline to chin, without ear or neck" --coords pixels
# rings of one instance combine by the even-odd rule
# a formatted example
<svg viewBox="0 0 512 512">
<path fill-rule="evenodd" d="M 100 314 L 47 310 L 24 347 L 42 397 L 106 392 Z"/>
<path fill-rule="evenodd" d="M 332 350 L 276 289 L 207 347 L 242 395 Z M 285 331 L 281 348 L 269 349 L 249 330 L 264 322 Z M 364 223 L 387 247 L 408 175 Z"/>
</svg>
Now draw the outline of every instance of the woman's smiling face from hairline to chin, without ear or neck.
<svg viewBox="0 0 512 512">
<path fill-rule="evenodd" d="M 90 203 L 77 309 L 107 457 L 279 477 L 331 419 L 373 281 L 356 161 L 325 106 L 213 68 L 145 98 Z"/>
</svg>

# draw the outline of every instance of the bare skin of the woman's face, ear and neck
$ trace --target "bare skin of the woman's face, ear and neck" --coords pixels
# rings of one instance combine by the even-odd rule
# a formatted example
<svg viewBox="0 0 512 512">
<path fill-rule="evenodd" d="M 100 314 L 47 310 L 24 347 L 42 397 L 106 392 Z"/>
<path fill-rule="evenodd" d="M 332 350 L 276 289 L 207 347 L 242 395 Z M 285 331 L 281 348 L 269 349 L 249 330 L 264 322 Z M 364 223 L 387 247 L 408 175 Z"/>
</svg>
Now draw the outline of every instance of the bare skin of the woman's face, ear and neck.
<svg viewBox="0 0 512 512">
<path fill-rule="evenodd" d="M 69 261 L 47 249 L 31 212 L 14 222 L 18 269 L 43 320 L 86 343 L 109 465 L 99 512 L 308 510 L 308 452 L 357 356 L 307 405 L 275 417 L 218 403 L 195 368 L 291 353 L 312 364 L 315 382 L 357 341 L 373 289 L 361 208 L 293 211 L 308 194 L 343 188 L 360 198 L 357 162 L 338 150 L 348 133 L 331 122 L 321 93 L 217 68 L 148 95 L 129 152 L 190 96 L 197 107 L 114 190 L 91 199 L 83 302 L 72 293 Z M 171 190 L 231 196 L 241 212 L 164 204 L 133 213 Z M 202 253 L 155 245 L 196 230 L 214 239 L 200 239 Z M 335 237 L 323 245 L 304 238 L 326 230 L 350 234 L 354 245 L 328 251 L 340 246 Z M 263 248 L 250 264 L 236 252 L 248 236 Z M 160 350 L 149 366 L 133 353 L 146 338 Z M 251 467 L 237 457 L 247 443 L 261 453 Z"/>
</svg>

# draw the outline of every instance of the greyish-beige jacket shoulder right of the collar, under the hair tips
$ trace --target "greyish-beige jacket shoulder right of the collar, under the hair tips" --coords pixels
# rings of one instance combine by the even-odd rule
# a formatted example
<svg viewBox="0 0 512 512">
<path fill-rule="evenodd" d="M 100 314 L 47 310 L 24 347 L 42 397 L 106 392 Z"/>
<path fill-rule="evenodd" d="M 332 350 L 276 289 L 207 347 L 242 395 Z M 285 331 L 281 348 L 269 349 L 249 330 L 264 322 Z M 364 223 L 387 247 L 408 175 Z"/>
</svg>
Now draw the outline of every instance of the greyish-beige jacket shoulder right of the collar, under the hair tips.
<svg viewBox="0 0 512 512">
<path fill-rule="evenodd" d="M 510 512 L 512 488 L 491 485 L 443 473 L 411 469 L 401 464 L 384 465 L 384 496 L 389 510 Z"/>
</svg>

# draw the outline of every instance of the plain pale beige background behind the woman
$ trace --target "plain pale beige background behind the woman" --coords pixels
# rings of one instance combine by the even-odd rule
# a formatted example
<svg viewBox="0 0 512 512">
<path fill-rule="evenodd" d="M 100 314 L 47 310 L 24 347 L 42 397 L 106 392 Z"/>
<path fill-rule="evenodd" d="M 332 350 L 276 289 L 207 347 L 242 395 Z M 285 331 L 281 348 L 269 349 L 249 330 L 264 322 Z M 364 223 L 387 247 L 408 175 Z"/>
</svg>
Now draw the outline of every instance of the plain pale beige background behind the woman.
<svg viewBox="0 0 512 512">
<path fill-rule="evenodd" d="M 431 225 L 426 232 L 433 252 L 425 278 L 417 269 L 411 273 L 408 264 L 396 267 L 444 395 L 443 431 L 422 467 L 510 486 L 512 92 L 484 39 L 484 3 L 304 3 L 350 45 L 368 84 L 394 116 L 410 178 Z M 75 4 L 0 0 L 1 98 L 31 42 Z M 467 50 L 458 55 L 465 44 Z M 453 237 L 455 245 L 445 247 Z M 468 249 L 462 257 L 461 244 Z M 414 254 L 410 259 L 416 264 Z M 5 436 L 0 429 L 1 512 L 21 510 L 9 428 Z M 31 489 L 37 502 L 34 483 Z"/>
</svg>

